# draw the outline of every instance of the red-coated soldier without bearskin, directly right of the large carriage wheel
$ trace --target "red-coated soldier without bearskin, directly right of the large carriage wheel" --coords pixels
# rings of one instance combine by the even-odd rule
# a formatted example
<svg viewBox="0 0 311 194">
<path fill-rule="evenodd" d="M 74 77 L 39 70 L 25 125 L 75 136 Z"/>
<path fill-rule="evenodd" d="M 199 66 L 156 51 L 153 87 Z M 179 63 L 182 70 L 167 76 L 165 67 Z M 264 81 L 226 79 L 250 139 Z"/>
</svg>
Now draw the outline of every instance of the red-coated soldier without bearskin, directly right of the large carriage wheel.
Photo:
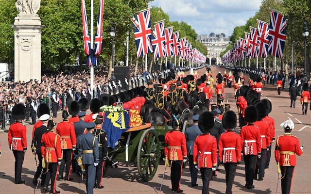
<svg viewBox="0 0 311 194">
<path fill-rule="evenodd" d="M 164 154 L 171 162 L 171 182 L 173 193 L 181 193 L 180 179 L 182 162 L 187 161 L 187 147 L 185 134 L 179 131 L 177 119 L 173 120 L 173 130 L 165 134 Z"/>
</svg>

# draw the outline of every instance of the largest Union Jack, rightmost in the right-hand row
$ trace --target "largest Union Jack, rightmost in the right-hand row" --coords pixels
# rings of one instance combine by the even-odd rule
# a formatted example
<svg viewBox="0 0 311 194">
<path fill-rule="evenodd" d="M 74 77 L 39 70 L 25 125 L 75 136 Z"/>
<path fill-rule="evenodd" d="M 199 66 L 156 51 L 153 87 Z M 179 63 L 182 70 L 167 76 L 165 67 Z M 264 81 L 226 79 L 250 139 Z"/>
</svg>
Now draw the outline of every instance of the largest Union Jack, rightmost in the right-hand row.
<svg viewBox="0 0 311 194">
<path fill-rule="evenodd" d="M 283 57 L 283 49 L 286 40 L 286 25 L 287 20 L 284 16 L 271 10 L 268 53 L 277 58 Z"/>
</svg>

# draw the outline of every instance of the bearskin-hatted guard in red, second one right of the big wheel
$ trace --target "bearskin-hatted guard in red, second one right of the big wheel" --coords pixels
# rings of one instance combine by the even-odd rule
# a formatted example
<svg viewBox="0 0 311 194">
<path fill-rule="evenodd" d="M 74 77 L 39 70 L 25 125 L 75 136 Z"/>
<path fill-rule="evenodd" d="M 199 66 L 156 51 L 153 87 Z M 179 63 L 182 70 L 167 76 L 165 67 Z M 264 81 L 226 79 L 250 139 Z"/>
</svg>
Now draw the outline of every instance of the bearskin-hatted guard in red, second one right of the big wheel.
<svg viewBox="0 0 311 194">
<path fill-rule="evenodd" d="M 241 137 L 233 132 L 237 126 L 237 115 L 233 111 L 225 112 L 223 127 L 227 132 L 222 133 L 219 138 L 219 162 L 225 166 L 226 194 L 232 193 L 232 185 L 237 170 L 241 163 Z"/>
</svg>

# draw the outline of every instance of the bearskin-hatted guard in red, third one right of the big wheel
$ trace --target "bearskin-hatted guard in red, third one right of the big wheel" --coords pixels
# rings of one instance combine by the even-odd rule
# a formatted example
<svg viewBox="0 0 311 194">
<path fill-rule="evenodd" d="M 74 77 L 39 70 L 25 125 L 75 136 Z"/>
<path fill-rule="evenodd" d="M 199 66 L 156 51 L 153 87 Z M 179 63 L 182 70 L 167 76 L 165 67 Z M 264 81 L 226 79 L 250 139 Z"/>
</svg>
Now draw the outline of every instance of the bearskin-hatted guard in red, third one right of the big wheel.
<svg viewBox="0 0 311 194">
<path fill-rule="evenodd" d="M 261 157 L 261 144 L 260 144 L 260 131 L 259 128 L 254 126 L 257 121 L 258 111 L 257 108 L 250 105 L 245 109 L 245 122 L 247 125 L 241 128 L 241 145 L 243 149 L 243 158 L 245 162 L 245 187 L 247 189 L 254 189 L 254 172 L 256 167 L 257 158 Z"/>
</svg>

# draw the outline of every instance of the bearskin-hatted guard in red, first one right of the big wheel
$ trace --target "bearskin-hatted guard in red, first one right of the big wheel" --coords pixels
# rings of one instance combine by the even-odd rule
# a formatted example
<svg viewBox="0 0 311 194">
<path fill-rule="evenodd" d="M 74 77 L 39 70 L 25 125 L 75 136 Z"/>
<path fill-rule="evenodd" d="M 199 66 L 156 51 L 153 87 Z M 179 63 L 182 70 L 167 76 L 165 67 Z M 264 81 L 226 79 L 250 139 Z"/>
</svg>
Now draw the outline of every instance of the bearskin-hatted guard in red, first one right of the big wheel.
<svg viewBox="0 0 311 194">
<path fill-rule="evenodd" d="M 210 112 L 203 112 L 199 116 L 199 129 L 202 135 L 197 136 L 193 144 L 193 164 L 200 168 L 203 188 L 202 194 L 208 194 L 209 181 L 212 171 L 216 170 L 217 164 L 217 142 L 216 138 L 209 134 L 214 126 L 214 116 Z"/>
</svg>

